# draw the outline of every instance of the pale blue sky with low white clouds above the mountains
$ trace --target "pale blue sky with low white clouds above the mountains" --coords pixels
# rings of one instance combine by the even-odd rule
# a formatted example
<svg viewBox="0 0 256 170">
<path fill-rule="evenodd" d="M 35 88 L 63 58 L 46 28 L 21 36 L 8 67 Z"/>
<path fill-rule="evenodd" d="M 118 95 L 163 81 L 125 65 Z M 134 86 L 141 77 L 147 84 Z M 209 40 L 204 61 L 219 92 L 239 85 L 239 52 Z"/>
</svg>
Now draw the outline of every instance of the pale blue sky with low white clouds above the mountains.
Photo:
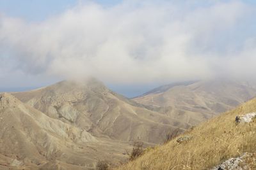
<svg viewBox="0 0 256 170">
<path fill-rule="evenodd" d="M 134 97 L 256 72 L 255 1 L 0 1 L 0 91 L 93 76 Z"/>
</svg>

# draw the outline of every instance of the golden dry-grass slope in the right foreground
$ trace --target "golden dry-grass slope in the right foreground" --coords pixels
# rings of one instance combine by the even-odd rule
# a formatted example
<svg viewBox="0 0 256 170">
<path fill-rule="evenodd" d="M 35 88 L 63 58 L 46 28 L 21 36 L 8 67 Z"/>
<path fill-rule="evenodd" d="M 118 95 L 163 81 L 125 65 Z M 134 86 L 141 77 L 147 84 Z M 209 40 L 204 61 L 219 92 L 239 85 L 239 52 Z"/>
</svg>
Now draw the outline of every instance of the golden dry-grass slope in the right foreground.
<svg viewBox="0 0 256 170">
<path fill-rule="evenodd" d="M 118 169 L 211 169 L 230 157 L 256 152 L 256 121 L 236 124 L 237 115 L 256 111 L 256 99 L 232 111 L 204 122 L 184 135 L 191 141 L 177 143 L 177 138 L 148 150 L 138 159 Z M 248 162 L 256 169 L 256 162 Z"/>
</svg>

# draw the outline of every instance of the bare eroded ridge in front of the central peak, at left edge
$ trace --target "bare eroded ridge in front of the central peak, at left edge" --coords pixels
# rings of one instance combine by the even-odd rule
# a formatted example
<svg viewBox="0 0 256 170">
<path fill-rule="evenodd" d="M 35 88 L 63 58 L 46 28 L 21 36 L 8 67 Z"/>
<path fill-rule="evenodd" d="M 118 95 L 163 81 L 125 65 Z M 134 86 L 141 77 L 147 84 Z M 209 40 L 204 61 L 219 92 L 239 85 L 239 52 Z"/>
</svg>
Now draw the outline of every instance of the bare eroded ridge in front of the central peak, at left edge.
<svg viewBox="0 0 256 170">
<path fill-rule="evenodd" d="M 0 169 L 93 169 L 100 159 L 123 161 L 124 148 L 129 147 L 95 138 L 10 94 L 0 94 Z"/>
</svg>

